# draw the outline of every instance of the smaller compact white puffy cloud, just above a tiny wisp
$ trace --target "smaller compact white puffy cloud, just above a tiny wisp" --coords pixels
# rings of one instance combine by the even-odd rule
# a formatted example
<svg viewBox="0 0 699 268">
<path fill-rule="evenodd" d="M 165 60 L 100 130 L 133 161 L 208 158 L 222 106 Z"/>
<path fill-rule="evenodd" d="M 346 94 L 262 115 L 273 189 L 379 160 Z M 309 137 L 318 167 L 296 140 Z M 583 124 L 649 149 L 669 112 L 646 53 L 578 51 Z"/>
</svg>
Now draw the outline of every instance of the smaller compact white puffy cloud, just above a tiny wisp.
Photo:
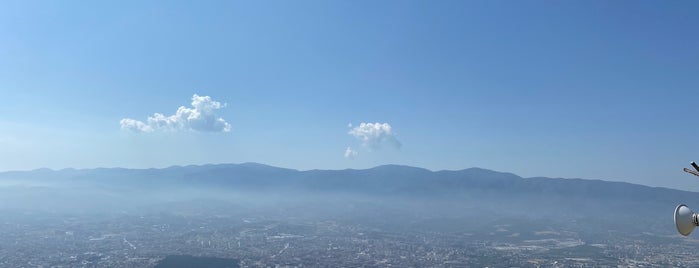
<svg viewBox="0 0 699 268">
<path fill-rule="evenodd" d="M 347 134 L 361 140 L 363 146 L 371 149 L 379 149 L 382 144 L 389 144 L 396 149 L 401 146 L 396 139 L 396 133 L 388 123 L 361 123 Z"/>
</svg>

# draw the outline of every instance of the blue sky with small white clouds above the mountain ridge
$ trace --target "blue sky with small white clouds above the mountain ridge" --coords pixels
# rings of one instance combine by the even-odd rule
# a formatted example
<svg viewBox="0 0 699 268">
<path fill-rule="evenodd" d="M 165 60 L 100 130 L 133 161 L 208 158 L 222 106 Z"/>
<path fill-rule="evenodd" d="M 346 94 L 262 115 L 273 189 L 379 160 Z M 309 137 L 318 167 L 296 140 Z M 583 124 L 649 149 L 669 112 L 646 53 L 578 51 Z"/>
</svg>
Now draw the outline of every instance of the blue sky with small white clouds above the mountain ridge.
<svg viewBox="0 0 699 268">
<path fill-rule="evenodd" d="M 404 164 L 699 190 L 682 172 L 699 161 L 698 11 L 3 1 L 0 170 Z"/>
</svg>

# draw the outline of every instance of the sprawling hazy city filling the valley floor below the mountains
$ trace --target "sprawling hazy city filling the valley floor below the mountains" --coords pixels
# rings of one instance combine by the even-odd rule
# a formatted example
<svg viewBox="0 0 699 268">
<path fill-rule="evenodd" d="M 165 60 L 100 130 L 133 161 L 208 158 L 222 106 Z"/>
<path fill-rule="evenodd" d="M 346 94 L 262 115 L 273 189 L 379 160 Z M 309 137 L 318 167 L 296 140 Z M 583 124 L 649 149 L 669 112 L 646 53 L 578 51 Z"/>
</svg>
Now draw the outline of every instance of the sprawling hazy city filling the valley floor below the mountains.
<svg viewBox="0 0 699 268">
<path fill-rule="evenodd" d="M 4 215 L 3 267 L 155 267 L 170 255 L 226 258 L 241 267 L 699 265 L 699 241 L 691 238 L 615 231 L 590 235 L 541 221 L 440 232 L 289 215 L 115 214 L 100 220 Z"/>
</svg>

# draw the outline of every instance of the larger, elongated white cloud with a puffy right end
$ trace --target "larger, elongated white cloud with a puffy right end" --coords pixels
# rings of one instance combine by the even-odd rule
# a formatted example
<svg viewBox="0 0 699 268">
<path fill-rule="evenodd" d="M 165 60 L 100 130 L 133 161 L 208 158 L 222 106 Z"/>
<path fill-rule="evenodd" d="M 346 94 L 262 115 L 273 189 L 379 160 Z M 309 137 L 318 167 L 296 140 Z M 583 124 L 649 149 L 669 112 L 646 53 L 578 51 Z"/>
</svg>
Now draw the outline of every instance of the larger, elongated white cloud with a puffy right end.
<svg viewBox="0 0 699 268">
<path fill-rule="evenodd" d="M 121 129 L 134 132 L 153 132 L 156 130 L 229 132 L 231 125 L 215 113 L 215 110 L 224 107 L 226 104 L 214 101 L 209 96 L 194 94 L 192 107 L 180 106 L 173 115 L 165 116 L 161 113 L 154 113 L 153 116 L 148 117 L 146 122 L 124 118 L 119 121 L 119 124 Z"/>
</svg>

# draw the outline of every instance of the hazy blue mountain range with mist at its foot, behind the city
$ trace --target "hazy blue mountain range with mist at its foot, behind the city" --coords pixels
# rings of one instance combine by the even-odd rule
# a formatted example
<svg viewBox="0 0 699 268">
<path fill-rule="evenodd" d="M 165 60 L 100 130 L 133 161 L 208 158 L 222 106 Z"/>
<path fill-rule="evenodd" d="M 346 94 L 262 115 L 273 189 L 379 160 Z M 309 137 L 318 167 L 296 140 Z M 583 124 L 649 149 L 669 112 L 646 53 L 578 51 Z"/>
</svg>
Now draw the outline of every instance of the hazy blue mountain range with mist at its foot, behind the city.
<svg viewBox="0 0 699 268">
<path fill-rule="evenodd" d="M 256 163 L 39 169 L 0 173 L 0 186 L 0 209 L 20 211 L 167 210 L 196 203 L 223 210 L 349 213 L 342 216 L 347 219 L 397 213 L 443 223 L 449 222 L 446 218 L 476 225 L 498 219 L 513 224 L 543 220 L 664 233 L 674 232 L 671 215 L 677 204 L 692 206 L 699 200 L 695 192 L 623 182 L 521 178 L 480 168 L 433 172 L 397 165 L 308 171 Z M 372 213 L 378 214 L 367 216 Z"/>
</svg>

